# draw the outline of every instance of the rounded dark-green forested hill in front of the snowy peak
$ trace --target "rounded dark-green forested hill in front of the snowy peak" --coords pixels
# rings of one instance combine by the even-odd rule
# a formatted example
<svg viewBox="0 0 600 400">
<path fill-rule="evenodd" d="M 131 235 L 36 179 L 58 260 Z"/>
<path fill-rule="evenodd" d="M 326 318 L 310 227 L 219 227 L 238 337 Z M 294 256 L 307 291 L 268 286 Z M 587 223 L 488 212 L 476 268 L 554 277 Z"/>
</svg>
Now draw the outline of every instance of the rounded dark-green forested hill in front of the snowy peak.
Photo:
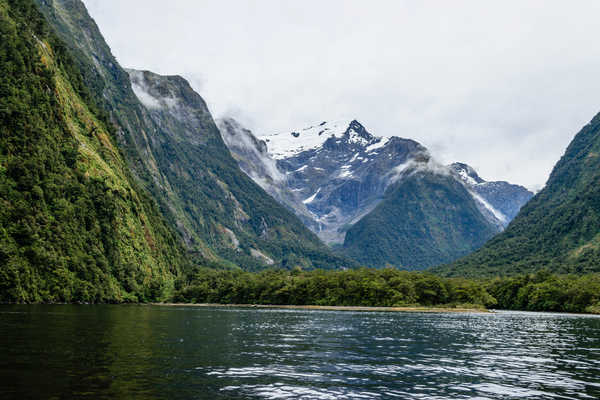
<svg viewBox="0 0 600 400">
<path fill-rule="evenodd" d="M 367 266 L 423 269 L 469 254 L 497 232 L 462 184 L 417 172 L 348 230 L 344 252 Z"/>
</svg>

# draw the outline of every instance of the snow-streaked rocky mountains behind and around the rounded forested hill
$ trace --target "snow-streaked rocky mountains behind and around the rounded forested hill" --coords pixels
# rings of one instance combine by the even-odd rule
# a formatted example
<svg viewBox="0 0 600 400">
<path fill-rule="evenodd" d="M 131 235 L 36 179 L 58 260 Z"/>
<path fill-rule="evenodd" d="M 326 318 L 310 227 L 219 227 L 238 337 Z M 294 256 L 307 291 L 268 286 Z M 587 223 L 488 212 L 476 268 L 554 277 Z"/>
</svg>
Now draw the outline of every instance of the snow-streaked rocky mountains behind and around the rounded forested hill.
<svg viewBox="0 0 600 400">
<path fill-rule="evenodd" d="M 454 177 L 498 230 L 513 216 L 514 210 L 507 209 L 511 197 L 496 195 L 503 193 L 503 186 L 485 182 L 467 164 L 439 164 L 414 140 L 375 136 L 357 120 L 323 121 L 259 139 L 237 125 L 232 131 L 234 125 L 220 127 L 240 167 L 328 243 L 343 243 L 347 229 L 370 213 L 388 188 L 415 174 Z M 263 144 L 268 154 L 262 148 L 248 149 Z M 284 179 L 273 179 L 273 163 Z"/>
</svg>

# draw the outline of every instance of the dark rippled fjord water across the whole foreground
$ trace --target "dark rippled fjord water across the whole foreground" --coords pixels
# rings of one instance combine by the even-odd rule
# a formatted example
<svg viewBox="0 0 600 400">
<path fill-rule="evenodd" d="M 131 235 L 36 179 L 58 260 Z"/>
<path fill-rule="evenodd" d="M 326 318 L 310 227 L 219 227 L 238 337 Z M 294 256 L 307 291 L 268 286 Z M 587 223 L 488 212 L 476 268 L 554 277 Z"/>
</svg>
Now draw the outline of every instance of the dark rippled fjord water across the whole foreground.
<svg viewBox="0 0 600 400">
<path fill-rule="evenodd" d="M 596 399 L 600 318 L 0 306 L 0 398 Z"/>
</svg>

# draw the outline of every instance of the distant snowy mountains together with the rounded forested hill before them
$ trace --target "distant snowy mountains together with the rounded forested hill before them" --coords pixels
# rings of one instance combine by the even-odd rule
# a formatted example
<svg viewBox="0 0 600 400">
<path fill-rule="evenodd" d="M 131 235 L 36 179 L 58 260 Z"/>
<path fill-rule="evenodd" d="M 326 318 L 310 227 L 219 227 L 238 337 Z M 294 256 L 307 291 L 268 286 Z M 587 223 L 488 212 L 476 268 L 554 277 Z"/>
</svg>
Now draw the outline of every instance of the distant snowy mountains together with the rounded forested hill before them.
<svg viewBox="0 0 600 400">
<path fill-rule="evenodd" d="M 343 243 L 371 266 L 422 268 L 465 255 L 502 230 L 533 195 L 486 182 L 466 164 L 439 165 L 419 143 L 373 136 L 358 121 L 260 139 L 232 120 L 220 127 L 242 170 L 323 240 Z M 409 200 L 402 194 L 408 187 L 421 192 Z"/>
</svg>

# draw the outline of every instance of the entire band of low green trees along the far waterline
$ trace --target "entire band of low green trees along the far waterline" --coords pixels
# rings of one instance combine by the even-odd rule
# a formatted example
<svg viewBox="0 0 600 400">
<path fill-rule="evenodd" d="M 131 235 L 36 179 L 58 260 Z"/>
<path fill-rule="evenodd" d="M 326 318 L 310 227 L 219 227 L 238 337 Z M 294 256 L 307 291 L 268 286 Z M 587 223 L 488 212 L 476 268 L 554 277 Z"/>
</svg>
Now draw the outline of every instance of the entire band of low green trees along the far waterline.
<svg viewBox="0 0 600 400">
<path fill-rule="evenodd" d="M 600 312 L 600 274 L 547 271 L 509 278 L 443 278 L 394 268 L 347 271 L 199 269 L 178 282 L 174 301 L 335 306 L 467 306 Z"/>
</svg>

